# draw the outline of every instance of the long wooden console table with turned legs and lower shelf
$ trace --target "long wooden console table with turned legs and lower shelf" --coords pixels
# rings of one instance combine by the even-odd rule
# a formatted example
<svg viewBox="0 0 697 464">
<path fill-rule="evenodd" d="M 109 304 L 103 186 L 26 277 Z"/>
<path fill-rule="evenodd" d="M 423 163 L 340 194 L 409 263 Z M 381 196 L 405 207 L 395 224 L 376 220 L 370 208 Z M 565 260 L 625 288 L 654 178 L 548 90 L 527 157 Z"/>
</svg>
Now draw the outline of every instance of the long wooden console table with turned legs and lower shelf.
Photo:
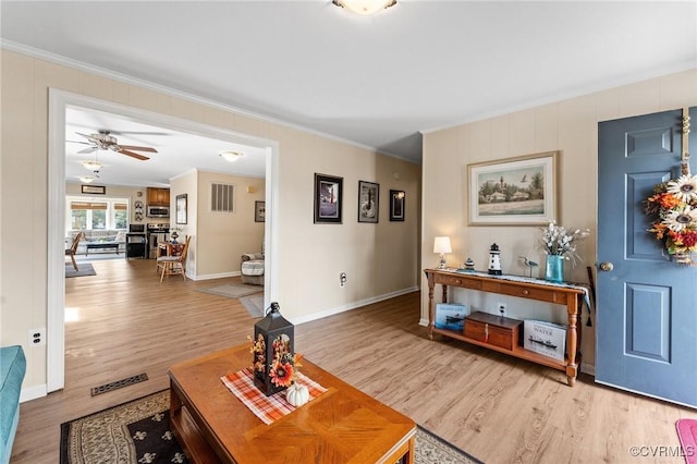
<svg viewBox="0 0 697 464">
<path fill-rule="evenodd" d="M 566 379 L 571 387 L 576 381 L 578 375 L 578 364 L 580 353 L 577 352 L 580 345 L 580 325 L 578 323 L 578 309 L 582 307 L 586 289 L 573 284 L 557 284 L 546 280 L 522 278 L 517 276 L 489 276 L 478 271 L 458 271 L 456 269 L 426 269 L 424 270 L 428 279 L 428 338 L 433 340 L 433 333 L 462 340 L 479 346 L 485 346 L 500 353 L 531 361 L 548 367 L 566 373 Z M 494 346 L 486 342 L 480 342 L 465 337 L 463 332 L 437 329 L 436 328 L 436 304 L 433 293 L 436 284 L 443 289 L 442 302 L 448 303 L 448 286 L 478 290 L 487 293 L 498 293 L 502 295 L 517 296 L 521 298 L 536 300 L 539 302 L 554 303 L 566 307 L 568 322 L 566 326 L 566 351 L 564 361 L 557 361 L 523 346 L 513 346 L 513 350 Z M 465 322 L 466 323 L 466 322 Z"/>
</svg>

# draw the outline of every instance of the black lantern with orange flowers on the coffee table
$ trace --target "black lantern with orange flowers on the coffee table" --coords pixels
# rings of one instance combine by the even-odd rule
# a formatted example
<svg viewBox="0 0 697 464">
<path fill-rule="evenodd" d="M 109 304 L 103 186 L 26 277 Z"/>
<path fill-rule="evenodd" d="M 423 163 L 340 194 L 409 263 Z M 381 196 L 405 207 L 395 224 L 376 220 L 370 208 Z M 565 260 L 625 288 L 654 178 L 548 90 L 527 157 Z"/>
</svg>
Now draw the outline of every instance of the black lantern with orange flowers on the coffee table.
<svg viewBox="0 0 697 464">
<path fill-rule="evenodd" d="M 266 317 L 254 325 L 254 384 L 267 396 L 284 390 L 290 384 L 284 376 L 292 373 L 283 365 L 293 359 L 293 325 L 279 309 L 278 303 L 271 303 Z"/>
</svg>

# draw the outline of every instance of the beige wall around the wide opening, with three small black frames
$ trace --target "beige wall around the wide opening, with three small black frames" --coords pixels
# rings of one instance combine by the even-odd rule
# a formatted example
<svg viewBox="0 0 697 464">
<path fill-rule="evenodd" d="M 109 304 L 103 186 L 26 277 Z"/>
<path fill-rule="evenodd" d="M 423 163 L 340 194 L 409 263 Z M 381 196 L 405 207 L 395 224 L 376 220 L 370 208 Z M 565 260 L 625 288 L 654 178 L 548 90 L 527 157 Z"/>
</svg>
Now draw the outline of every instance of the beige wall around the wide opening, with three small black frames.
<svg viewBox="0 0 697 464">
<path fill-rule="evenodd" d="M 40 390 L 47 382 L 46 349 L 29 347 L 26 339 L 29 329 L 46 327 L 48 314 L 49 88 L 276 141 L 280 251 L 274 259 L 278 301 L 289 319 L 307 320 L 417 286 L 420 167 L 220 107 L 7 50 L 1 53 L 0 343 L 24 345 L 24 389 Z M 344 178 L 343 224 L 313 224 L 315 172 Z M 380 183 L 377 225 L 356 221 L 358 180 Z M 388 220 L 389 188 L 406 191 L 405 222 Z M 198 253 L 207 246 L 197 241 Z M 344 289 L 339 288 L 341 271 L 348 276 Z"/>
</svg>

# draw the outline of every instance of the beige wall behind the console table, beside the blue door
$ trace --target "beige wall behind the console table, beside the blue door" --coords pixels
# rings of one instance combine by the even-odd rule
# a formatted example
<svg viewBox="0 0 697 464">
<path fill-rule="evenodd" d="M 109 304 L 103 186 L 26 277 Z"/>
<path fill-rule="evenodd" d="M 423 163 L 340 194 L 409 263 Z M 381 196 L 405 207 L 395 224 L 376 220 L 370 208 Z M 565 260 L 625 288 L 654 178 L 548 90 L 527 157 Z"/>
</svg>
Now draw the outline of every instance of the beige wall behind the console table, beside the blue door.
<svg viewBox="0 0 697 464">
<path fill-rule="evenodd" d="M 543 255 L 536 247 L 540 236 L 537 227 L 467 227 L 465 172 L 469 163 L 560 150 L 561 213 L 558 222 L 591 230 L 590 240 L 580 247 L 584 264 L 575 269 L 566 265 L 565 277 L 588 282 L 586 266 L 596 261 L 598 122 L 695 105 L 697 70 L 692 70 L 426 134 L 421 221 L 424 265 L 437 264 L 437 257 L 430 253 L 436 235 L 452 239 L 450 266 L 462 265 L 470 256 L 477 269 L 486 270 L 488 249 L 494 242 L 501 247 L 502 269 L 506 273 L 526 273 L 519 256 L 543 262 Z M 539 272 L 543 271 L 542 264 Z M 421 284 L 426 285 L 425 280 Z M 490 313 L 494 313 L 497 302 L 503 301 L 509 303 L 512 317 L 565 321 L 563 310 L 530 305 L 519 298 L 463 291 L 456 300 Z M 423 295 L 421 318 L 428 318 L 428 295 Z M 586 313 L 584 325 L 585 320 Z M 584 363 L 595 365 L 592 328 L 584 326 L 582 349 Z"/>
</svg>

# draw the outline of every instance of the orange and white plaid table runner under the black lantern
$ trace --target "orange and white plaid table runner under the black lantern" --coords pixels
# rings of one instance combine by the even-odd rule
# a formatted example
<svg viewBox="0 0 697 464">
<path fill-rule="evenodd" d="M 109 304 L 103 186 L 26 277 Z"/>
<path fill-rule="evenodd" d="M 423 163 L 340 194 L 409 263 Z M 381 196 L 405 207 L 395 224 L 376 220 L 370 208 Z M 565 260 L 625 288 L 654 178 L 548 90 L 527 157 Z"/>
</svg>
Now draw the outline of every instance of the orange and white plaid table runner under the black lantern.
<svg viewBox="0 0 697 464">
<path fill-rule="evenodd" d="M 297 382 L 309 390 L 309 401 L 319 396 L 327 389 L 301 373 L 297 373 Z M 286 414 L 295 411 L 295 406 L 285 401 L 285 392 L 280 391 L 271 396 L 261 393 L 254 384 L 252 368 L 247 367 L 234 374 L 220 378 L 230 391 L 242 401 L 265 424 L 271 424 Z"/>
</svg>

